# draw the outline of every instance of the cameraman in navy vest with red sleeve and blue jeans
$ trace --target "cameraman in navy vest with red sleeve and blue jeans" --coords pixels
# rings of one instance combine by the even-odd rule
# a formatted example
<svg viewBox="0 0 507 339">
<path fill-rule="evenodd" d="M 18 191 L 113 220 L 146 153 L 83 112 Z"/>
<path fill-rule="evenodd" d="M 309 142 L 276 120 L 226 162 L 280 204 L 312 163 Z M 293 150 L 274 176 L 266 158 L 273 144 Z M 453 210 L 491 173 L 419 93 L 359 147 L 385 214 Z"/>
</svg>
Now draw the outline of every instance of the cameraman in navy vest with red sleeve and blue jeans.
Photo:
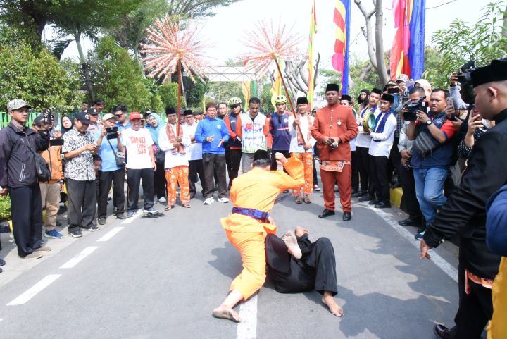
<svg viewBox="0 0 507 339">
<path fill-rule="evenodd" d="M 446 202 L 442 191 L 453 156 L 450 140 L 456 132 L 452 122 L 446 118 L 448 97 L 447 90 L 433 90 L 430 113 L 417 111 L 417 120 L 411 121 L 407 127 L 408 140 L 413 141 L 411 164 L 414 168 L 415 194 L 425 216 L 426 226 L 433 221 L 437 209 Z M 429 147 L 418 148 L 418 144 Z M 415 235 L 415 238 L 420 240 L 423 235 L 424 230 Z"/>
</svg>

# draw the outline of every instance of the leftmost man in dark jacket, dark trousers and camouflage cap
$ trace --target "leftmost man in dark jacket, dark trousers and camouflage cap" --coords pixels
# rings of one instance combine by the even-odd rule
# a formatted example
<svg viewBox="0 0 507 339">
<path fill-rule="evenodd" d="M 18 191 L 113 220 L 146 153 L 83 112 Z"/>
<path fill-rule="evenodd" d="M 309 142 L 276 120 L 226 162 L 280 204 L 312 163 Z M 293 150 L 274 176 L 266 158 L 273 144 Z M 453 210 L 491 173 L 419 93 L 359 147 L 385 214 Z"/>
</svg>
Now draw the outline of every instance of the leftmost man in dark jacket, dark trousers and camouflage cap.
<svg viewBox="0 0 507 339">
<path fill-rule="evenodd" d="M 39 259 L 42 247 L 42 202 L 38 183 L 35 152 L 49 147 L 46 124 L 35 132 L 26 127 L 28 110 L 25 100 L 7 104 L 11 122 L 0 130 L 0 195 L 11 195 L 14 241 L 21 258 Z"/>
</svg>

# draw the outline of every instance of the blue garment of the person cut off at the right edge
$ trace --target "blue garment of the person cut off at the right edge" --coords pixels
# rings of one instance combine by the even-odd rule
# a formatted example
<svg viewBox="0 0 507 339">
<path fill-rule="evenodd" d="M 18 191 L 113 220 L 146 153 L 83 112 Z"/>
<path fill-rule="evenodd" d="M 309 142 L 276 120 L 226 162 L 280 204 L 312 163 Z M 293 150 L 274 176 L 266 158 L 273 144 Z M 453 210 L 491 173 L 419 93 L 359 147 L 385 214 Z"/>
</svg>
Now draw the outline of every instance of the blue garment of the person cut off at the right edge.
<svg viewBox="0 0 507 339">
<path fill-rule="evenodd" d="M 507 185 L 494 192 L 486 210 L 487 245 L 492 252 L 507 257 Z"/>
</svg>

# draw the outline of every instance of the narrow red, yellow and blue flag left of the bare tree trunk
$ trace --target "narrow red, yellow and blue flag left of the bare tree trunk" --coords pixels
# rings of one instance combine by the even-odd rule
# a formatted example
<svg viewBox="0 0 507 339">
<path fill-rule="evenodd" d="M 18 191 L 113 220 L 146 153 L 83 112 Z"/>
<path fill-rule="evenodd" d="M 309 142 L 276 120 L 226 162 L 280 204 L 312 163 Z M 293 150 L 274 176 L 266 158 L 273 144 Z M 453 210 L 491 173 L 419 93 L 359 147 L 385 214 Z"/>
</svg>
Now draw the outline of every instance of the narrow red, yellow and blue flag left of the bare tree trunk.
<svg viewBox="0 0 507 339">
<path fill-rule="evenodd" d="M 349 39 L 350 39 L 351 1 L 337 0 L 334 8 L 334 24 L 336 40 L 334 42 L 334 55 L 331 58 L 332 66 L 342 73 L 342 94 L 349 93 Z"/>
</svg>

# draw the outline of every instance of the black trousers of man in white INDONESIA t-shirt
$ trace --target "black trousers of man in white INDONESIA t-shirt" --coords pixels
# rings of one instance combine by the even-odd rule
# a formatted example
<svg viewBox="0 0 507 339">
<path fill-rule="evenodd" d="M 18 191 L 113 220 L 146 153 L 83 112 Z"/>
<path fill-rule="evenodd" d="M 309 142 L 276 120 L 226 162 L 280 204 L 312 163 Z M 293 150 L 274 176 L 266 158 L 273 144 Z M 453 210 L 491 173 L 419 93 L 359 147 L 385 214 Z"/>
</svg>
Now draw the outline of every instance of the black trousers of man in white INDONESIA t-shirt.
<svg viewBox="0 0 507 339">
<path fill-rule="evenodd" d="M 154 205 L 154 170 L 153 168 L 132 169 L 127 171 L 127 209 L 135 211 L 138 209 L 139 186 L 143 187 L 144 209 L 151 209 Z"/>
</svg>

